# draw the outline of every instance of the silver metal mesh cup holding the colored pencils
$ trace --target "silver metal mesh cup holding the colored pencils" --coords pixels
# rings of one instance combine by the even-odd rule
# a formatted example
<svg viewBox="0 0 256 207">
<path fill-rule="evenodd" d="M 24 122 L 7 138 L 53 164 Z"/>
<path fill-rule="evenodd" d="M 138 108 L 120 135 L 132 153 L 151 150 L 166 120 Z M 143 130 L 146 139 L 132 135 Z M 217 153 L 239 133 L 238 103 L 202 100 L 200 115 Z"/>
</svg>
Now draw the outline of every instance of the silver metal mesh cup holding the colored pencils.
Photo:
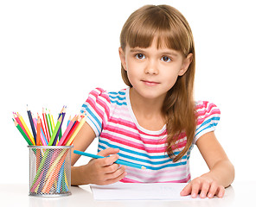
<svg viewBox="0 0 256 207">
<path fill-rule="evenodd" d="M 29 196 L 70 195 L 71 148 L 29 146 Z"/>
</svg>

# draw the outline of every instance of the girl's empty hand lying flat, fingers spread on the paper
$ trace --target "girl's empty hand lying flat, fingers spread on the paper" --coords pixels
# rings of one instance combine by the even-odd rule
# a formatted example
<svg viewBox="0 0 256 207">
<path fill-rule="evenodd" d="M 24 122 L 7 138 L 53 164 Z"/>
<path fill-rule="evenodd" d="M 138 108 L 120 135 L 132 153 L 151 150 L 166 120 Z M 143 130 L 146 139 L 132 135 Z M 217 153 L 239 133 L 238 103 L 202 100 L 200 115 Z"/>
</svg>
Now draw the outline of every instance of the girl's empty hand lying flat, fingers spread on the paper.
<svg viewBox="0 0 256 207">
<path fill-rule="evenodd" d="M 214 198 L 214 195 L 222 198 L 224 193 L 225 188 L 222 185 L 218 185 L 217 181 L 212 179 L 208 173 L 206 173 L 201 177 L 193 179 L 186 185 L 181 191 L 181 196 L 188 196 L 191 194 L 192 198 L 196 198 L 197 194 L 200 194 L 200 198 Z"/>
</svg>

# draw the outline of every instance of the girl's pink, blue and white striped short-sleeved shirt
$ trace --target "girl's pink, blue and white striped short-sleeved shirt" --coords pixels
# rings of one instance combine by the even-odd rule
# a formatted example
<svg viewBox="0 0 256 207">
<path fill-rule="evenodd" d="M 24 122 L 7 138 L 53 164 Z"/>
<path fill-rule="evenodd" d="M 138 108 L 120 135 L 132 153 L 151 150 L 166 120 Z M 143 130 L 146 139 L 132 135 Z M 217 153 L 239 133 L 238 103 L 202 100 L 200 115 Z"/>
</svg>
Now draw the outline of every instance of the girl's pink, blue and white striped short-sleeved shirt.
<svg viewBox="0 0 256 207">
<path fill-rule="evenodd" d="M 141 127 L 131 109 L 130 88 L 106 92 L 97 88 L 90 92 L 81 112 L 86 110 L 86 122 L 99 137 L 98 150 L 118 148 L 120 160 L 137 163 L 147 169 L 127 167 L 121 182 L 129 183 L 185 183 L 190 180 L 189 157 L 195 141 L 205 133 L 214 131 L 220 120 L 220 110 L 214 103 L 196 102 L 198 114 L 194 141 L 182 159 L 173 162 L 166 154 L 166 126 L 159 131 Z M 185 133 L 179 136 L 174 154 L 186 145 Z"/>
</svg>

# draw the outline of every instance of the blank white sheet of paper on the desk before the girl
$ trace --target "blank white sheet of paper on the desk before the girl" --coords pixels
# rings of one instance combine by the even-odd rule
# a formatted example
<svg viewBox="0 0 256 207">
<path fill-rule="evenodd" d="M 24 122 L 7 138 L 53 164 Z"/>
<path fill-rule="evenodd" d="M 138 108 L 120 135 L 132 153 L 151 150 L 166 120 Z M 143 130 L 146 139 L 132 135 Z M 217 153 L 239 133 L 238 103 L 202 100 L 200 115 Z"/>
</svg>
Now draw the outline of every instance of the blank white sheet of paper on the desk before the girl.
<svg viewBox="0 0 256 207">
<path fill-rule="evenodd" d="M 180 192 L 186 183 L 115 183 L 112 185 L 91 185 L 96 200 L 188 200 Z"/>
</svg>

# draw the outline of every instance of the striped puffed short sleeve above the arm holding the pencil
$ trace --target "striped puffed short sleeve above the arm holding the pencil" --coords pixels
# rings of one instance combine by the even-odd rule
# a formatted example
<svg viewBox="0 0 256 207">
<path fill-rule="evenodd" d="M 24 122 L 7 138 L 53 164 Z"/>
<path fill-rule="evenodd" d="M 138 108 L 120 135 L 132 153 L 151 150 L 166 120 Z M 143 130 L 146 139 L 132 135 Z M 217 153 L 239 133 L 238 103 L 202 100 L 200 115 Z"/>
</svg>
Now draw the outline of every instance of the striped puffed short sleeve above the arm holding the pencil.
<svg viewBox="0 0 256 207">
<path fill-rule="evenodd" d="M 86 111 L 86 122 L 91 126 L 96 136 L 99 136 L 109 118 L 110 98 L 108 93 L 101 88 L 96 88 L 89 93 L 80 112 Z"/>
</svg>

